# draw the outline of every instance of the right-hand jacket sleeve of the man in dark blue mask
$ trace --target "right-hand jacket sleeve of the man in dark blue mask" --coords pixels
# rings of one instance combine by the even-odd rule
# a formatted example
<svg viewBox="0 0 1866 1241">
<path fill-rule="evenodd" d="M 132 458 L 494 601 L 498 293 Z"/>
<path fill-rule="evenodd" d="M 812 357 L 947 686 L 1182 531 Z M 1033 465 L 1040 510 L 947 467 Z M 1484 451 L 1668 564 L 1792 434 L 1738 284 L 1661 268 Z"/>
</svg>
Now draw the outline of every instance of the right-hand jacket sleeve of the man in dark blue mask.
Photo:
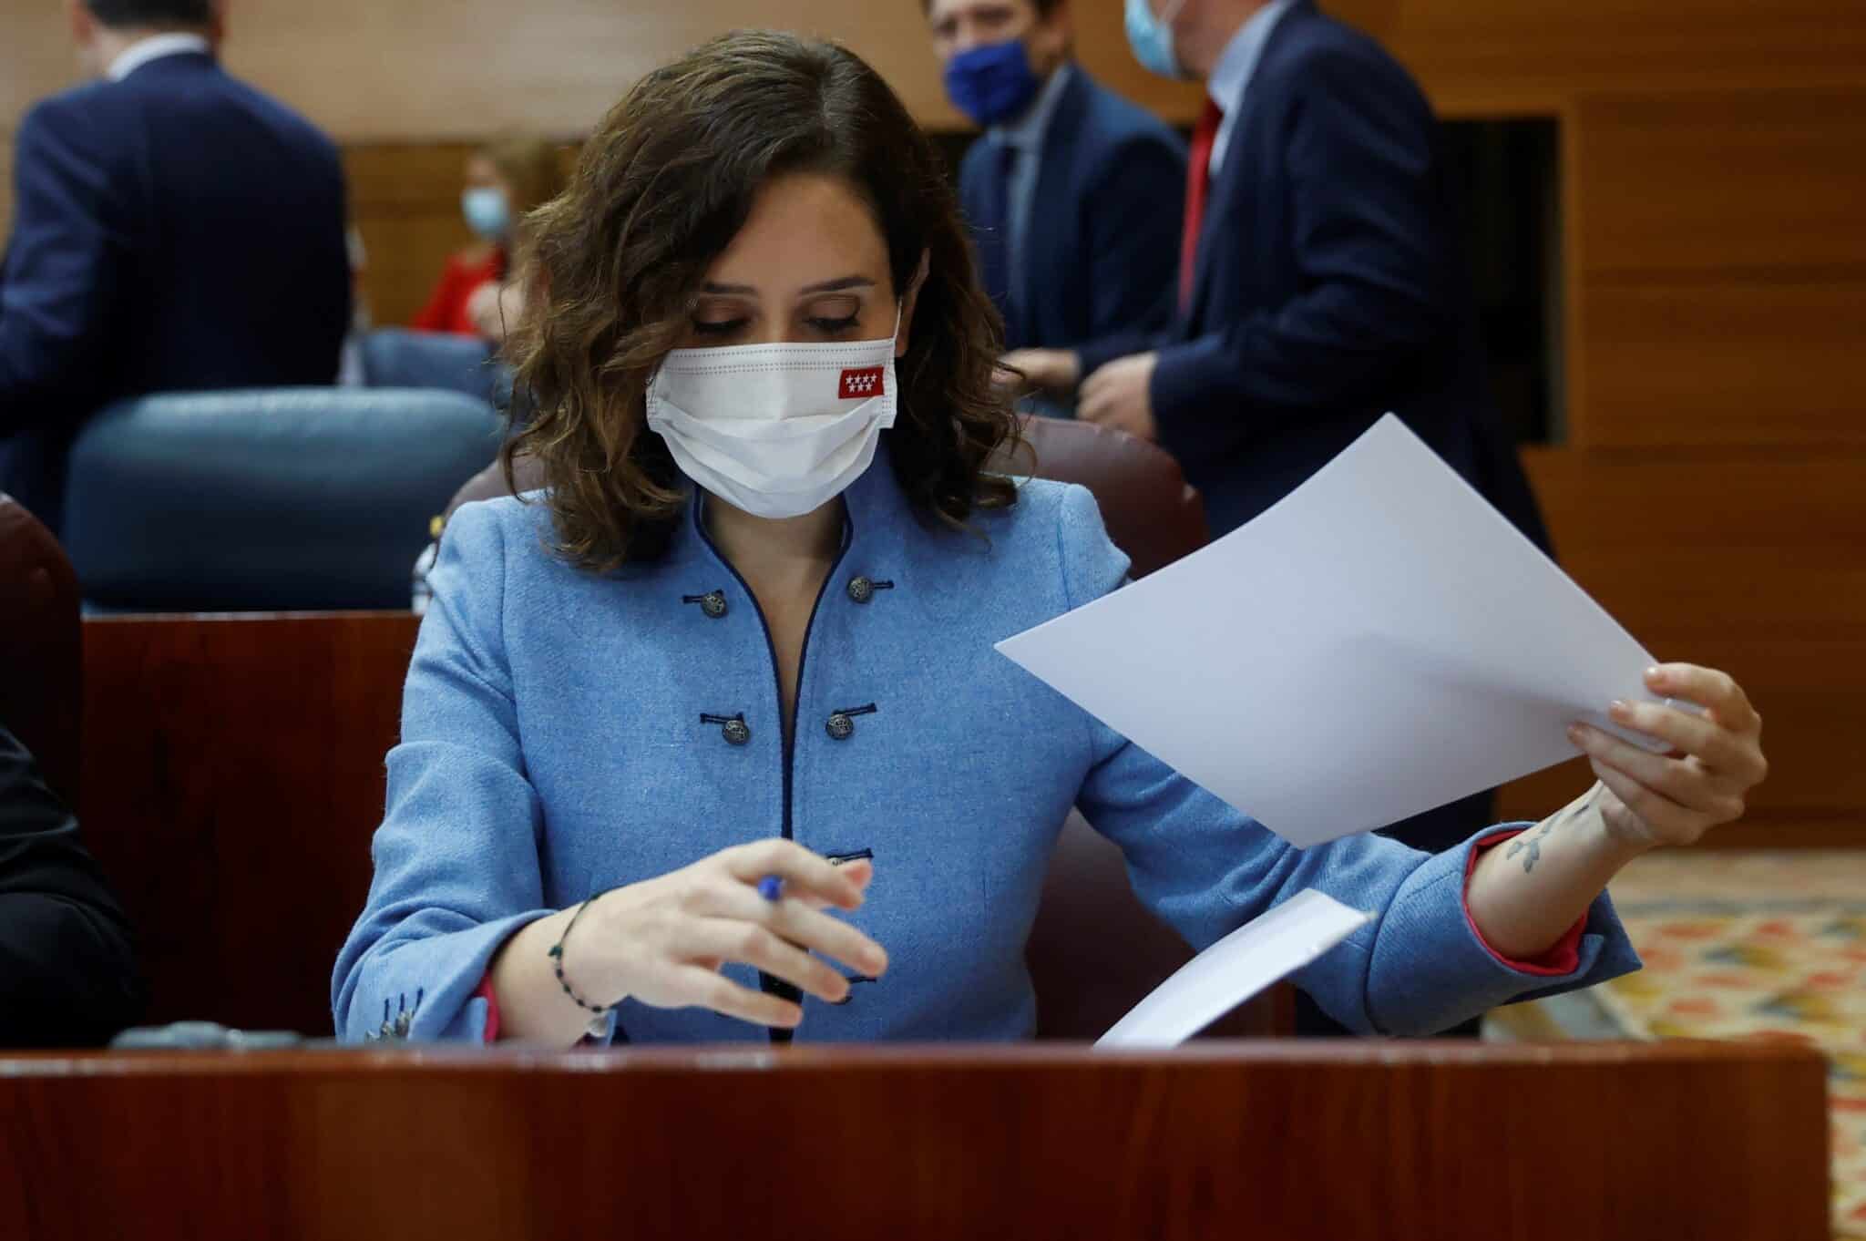
<svg viewBox="0 0 1866 1241">
<path fill-rule="evenodd" d="M 1159 134 L 1116 147 L 1088 207 L 1093 332 L 1079 347 L 1101 356 L 1172 325 L 1185 224 L 1185 151 Z"/>
</svg>

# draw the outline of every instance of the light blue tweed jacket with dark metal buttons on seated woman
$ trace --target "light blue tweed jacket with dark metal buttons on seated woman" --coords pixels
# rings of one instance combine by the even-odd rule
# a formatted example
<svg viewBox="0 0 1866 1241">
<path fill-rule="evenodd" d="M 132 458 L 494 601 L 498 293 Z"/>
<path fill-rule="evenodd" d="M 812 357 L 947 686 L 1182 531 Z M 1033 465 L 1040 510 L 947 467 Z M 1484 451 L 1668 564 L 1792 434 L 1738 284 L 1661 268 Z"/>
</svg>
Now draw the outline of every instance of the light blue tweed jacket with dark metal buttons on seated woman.
<svg viewBox="0 0 1866 1241">
<path fill-rule="evenodd" d="M 1375 836 L 1293 849 L 998 655 L 996 640 L 1123 582 L 1127 558 L 1088 491 L 1028 481 L 976 534 L 937 530 L 912 517 L 883 452 L 847 513 L 789 760 L 763 621 L 698 506 L 662 560 L 606 577 L 545 551 L 539 504 L 455 513 L 388 756 L 375 881 L 332 978 L 341 1038 L 480 1039 L 474 991 L 521 926 L 778 834 L 873 857 L 851 920 L 890 954 L 851 1002 L 806 998 L 799 1041 L 1024 1038 L 1024 939 L 1071 806 L 1194 946 L 1302 888 L 1377 911 L 1297 976 L 1358 1030 L 1431 1032 L 1638 967 L 1603 896 L 1573 974 L 1515 970 L 1465 916 L 1469 844 L 1439 857 Z M 625 1002 L 612 1038 L 767 1034 Z"/>
</svg>

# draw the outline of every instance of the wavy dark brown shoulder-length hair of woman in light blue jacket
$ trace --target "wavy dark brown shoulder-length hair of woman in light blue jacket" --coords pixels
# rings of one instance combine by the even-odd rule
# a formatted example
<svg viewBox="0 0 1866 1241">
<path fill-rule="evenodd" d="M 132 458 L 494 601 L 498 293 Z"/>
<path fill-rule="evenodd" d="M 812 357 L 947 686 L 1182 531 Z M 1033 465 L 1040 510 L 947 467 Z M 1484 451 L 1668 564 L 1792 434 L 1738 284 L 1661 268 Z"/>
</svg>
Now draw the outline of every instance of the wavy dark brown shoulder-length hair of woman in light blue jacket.
<svg viewBox="0 0 1866 1241">
<path fill-rule="evenodd" d="M 532 218 L 534 300 L 508 356 L 534 412 L 502 459 L 508 480 L 517 455 L 541 467 L 571 564 L 603 573 L 664 551 L 687 485 L 646 429 L 648 384 L 758 188 L 795 172 L 856 188 L 896 289 L 927 259 L 886 433 L 909 502 L 954 528 L 1015 502 L 1013 483 L 985 470 L 1017 446 L 993 383 L 1002 328 L 939 155 L 847 49 L 741 32 L 644 77 L 590 138 L 569 188 Z"/>
</svg>

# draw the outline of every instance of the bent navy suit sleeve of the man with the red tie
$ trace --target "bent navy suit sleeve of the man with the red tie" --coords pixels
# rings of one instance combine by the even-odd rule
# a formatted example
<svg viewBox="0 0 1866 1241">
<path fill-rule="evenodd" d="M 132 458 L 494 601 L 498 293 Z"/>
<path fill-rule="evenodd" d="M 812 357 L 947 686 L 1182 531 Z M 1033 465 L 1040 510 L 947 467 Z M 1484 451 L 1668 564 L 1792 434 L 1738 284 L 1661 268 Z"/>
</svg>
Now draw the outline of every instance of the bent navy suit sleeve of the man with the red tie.
<svg viewBox="0 0 1866 1241">
<path fill-rule="evenodd" d="M 1398 65 L 1358 56 L 1310 58 L 1291 90 L 1282 159 L 1304 291 L 1161 351 L 1153 409 L 1181 457 L 1379 403 L 1455 338 L 1431 110 Z"/>
</svg>

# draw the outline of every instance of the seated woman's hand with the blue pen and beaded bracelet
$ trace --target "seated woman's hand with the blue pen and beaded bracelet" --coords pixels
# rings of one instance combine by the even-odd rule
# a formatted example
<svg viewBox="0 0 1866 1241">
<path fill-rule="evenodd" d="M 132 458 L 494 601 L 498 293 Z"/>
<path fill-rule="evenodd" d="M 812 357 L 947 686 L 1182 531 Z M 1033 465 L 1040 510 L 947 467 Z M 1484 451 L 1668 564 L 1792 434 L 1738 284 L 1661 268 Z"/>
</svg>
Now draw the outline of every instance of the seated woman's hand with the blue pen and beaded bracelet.
<svg viewBox="0 0 1866 1241">
<path fill-rule="evenodd" d="M 802 1008 L 720 974 L 750 965 L 819 1000 L 840 1004 L 847 978 L 888 969 L 888 954 L 827 909 L 858 909 L 868 860 L 836 866 L 789 840 L 735 845 L 659 879 L 603 894 L 564 942 L 564 976 L 577 995 L 608 1004 L 621 997 L 653 1008 L 711 1008 L 761 1026 L 795 1026 Z M 765 875 L 784 896 L 758 892 Z M 812 952 L 829 957 L 810 955 Z"/>
</svg>

